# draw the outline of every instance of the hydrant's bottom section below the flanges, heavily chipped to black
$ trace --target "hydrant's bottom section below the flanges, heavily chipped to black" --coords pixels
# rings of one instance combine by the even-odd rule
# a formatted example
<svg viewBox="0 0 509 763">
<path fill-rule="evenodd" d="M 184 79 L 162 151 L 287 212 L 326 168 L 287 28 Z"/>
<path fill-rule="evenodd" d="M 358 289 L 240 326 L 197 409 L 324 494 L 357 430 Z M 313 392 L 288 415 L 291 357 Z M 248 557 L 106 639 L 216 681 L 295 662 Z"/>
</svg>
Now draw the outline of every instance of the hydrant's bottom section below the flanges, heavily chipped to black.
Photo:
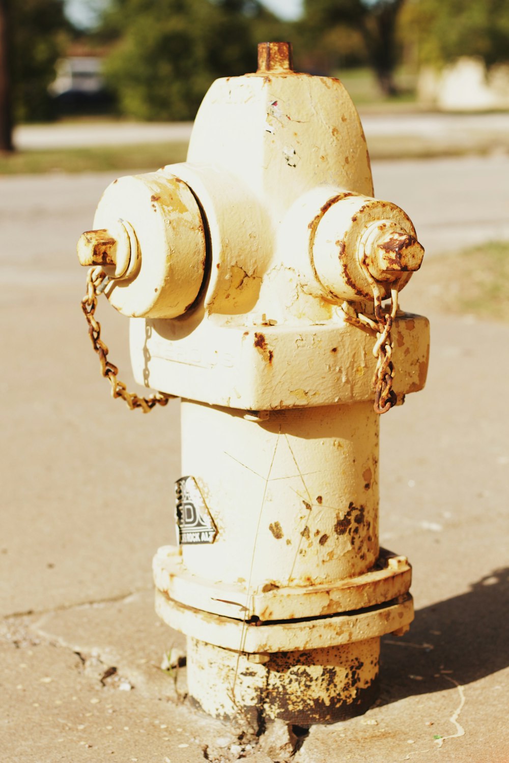
<svg viewBox="0 0 509 763">
<path fill-rule="evenodd" d="M 187 650 L 190 700 L 221 720 L 336 723 L 365 713 L 378 696 L 379 638 L 247 655 L 188 637 Z"/>
</svg>

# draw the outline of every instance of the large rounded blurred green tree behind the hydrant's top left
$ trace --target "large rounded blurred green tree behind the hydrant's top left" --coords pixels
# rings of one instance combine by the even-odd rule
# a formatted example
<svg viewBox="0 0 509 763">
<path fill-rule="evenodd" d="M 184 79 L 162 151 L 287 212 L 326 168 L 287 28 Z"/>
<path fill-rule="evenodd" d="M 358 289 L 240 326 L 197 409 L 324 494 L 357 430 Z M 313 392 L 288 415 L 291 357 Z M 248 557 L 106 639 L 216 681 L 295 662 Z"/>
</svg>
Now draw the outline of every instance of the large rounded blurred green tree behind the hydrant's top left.
<svg viewBox="0 0 509 763">
<path fill-rule="evenodd" d="M 256 70 L 257 34 L 276 27 L 256 0 L 112 0 L 105 77 L 123 114 L 194 118 L 214 79 Z"/>
</svg>

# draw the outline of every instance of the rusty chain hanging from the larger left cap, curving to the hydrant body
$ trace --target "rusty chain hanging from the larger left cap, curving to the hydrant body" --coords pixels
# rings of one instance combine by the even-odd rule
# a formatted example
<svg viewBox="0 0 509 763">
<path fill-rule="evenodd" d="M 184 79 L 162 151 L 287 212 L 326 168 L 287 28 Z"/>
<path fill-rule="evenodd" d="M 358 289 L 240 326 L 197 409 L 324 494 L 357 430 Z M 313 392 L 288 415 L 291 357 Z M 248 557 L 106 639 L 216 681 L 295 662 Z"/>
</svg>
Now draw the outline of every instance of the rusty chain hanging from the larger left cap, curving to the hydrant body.
<svg viewBox="0 0 509 763">
<path fill-rule="evenodd" d="M 127 392 L 124 382 L 118 381 L 118 368 L 108 360 L 108 347 L 101 340 L 101 324 L 95 319 L 98 295 L 105 290 L 109 280 L 108 275 L 100 267 L 90 268 L 87 273 L 87 290 L 82 298 L 82 311 L 89 324 L 89 336 L 92 341 L 92 347 L 98 354 L 101 362 L 101 374 L 111 384 L 111 397 L 122 398 L 130 407 L 130 410 L 141 408 L 144 414 L 148 414 L 156 404 L 166 405 L 172 395 L 152 394 L 150 398 L 140 398 L 137 394 Z"/>
</svg>

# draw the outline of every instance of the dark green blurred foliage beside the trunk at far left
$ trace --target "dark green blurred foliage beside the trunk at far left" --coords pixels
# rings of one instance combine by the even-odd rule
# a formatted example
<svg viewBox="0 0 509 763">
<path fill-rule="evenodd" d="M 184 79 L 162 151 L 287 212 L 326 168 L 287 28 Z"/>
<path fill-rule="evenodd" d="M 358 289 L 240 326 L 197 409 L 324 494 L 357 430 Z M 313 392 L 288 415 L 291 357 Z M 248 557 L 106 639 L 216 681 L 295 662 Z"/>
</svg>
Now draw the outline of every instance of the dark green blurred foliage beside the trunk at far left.
<svg viewBox="0 0 509 763">
<path fill-rule="evenodd" d="M 68 40 L 63 0 L 11 0 L 11 72 L 15 121 L 52 114 L 48 85 Z"/>
</svg>

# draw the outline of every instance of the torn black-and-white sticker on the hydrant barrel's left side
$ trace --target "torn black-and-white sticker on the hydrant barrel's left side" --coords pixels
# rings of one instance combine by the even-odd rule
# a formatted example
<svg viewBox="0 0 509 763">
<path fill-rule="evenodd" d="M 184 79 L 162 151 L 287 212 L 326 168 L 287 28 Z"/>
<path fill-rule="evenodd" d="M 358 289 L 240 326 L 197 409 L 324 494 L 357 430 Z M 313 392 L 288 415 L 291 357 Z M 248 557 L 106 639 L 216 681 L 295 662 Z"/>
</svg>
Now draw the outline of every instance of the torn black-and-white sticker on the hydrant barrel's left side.
<svg viewBox="0 0 509 763">
<path fill-rule="evenodd" d="M 175 483 L 179 543 L 213 543 L 217 527 L 203 500 L 194 477 L 181 477 Z"/>
</svg>

